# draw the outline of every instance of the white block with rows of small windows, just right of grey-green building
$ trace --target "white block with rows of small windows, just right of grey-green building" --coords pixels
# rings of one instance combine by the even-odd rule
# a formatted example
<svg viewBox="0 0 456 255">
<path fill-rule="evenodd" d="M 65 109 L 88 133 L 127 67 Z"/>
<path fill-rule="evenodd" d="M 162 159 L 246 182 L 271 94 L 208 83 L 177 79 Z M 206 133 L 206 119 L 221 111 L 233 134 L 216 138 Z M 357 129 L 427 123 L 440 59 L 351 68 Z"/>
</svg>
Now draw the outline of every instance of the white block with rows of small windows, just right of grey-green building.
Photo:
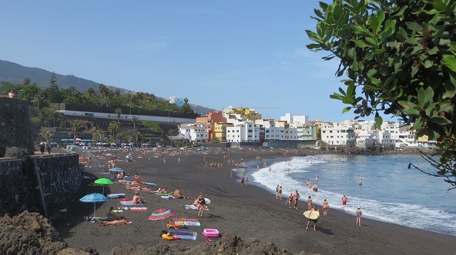
<svg viewBox="0 0 456 255">
<path fill-rule="evenodd" d="M 324 123 L 321 124 L 321 140 L 330 145 L 351 146 L 356 143 L 353 124 Z"/>
</svg>

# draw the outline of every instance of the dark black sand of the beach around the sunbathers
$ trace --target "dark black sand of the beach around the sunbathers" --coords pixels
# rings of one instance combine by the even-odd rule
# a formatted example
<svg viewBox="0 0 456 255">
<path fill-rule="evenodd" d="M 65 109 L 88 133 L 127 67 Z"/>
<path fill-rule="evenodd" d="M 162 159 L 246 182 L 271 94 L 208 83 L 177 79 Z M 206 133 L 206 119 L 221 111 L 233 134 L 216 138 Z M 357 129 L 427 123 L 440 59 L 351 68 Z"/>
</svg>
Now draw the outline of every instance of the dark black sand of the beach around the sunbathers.
<svg viewBox="0 0 456 255">
<path fill-rule="evenodd" d="M 284 152 L 279 148 L 254 151 L 231 149 L 229 160 L 241 162 L 243 158 L 244 161 L 254 161 L 256 156 L 260 156 L 262 163 L 266 158 L 282 158 Z M 116 153 L 121 157 L 119 151 L 110 153 Z M 311 153 L 321 151 L 292 150 L 286 157 Z M 98 223 L 83 222 L 84 215 L 93 214 L 93 204 L 75 202 L 68 207 L 67 215 L 56 215 L 52 219 L 54 227 L 70 246 L 90 246 L 97 249 L 100 254 L 108 254 L 120 244 L 150 247 L 166 242 L 159 236 L 162 221 L 151 221 L 147 218 L 154 210 L 166 207 L 175 210 L 174 217 L 197 218 L 202 224 L 202 227 L 188 229 L 198 233 L 197 241 L 180 240 L 167 244 L 204 244 L 207 238 L 202 235 L 202 229 L 209 228 L 219 229 L 221 234 L 234 233 L 242 238 L 255 237 L 261 241 L 272 241 L 294 253 L 306 251 L 308 254 L 456 254 L 455 236 L 370 219 L 363 219 L 363 226 L 356 227 L 353 215 L 331 208 L 327 217 L 318 219 L 316 232 L 310 228 L 306 231 L 306 220 L 303 216 L 303 212 L 307 210 L 306 202 L 301 200 L 299 210 L 290 210 L 284 204 L 285 200 L 276 200 L 271 192 L 254 185 L 241 187 L 235 173 L 230 176 L 227 159 L 224 159 L 224 156 L 228 156 L 228 151 L 186 151 L 174 156 L 164 154 L 157 158 L 154 157 L 157 154 L 152 152 L 143 158 L 138 158 L 139 155 L 139 152 L 133 152 L 134 162 L 119 161 L 118 166 L 128 173 L 138 173 L 146 182 L 157 183 L 158 187 L 167 187 L 171 191 L 180 187 L 182 193 L 191 199 L 165 200 L 158 195 L 141 191 L 140 195 L 145 197 L 147 202 L 143 205 L 147 207 L 147 211 L 116 213 L 134 222 L 132 225 L 116 227 L 102 227 Z M 103 156 L 103 153 L 94 153 L 94 156 L 96 157 L 93 158 L 93 162 L 98 161 L 100 165 L 107 165 L 108 158 L 98 158 Z M 166 158 L 166 164 L 163 158 Z M 222 162 L 224 168 L 209 170 L 209 166 L 204 166 L 204 159 L 209 163 Z M 107 166 L 94 166 L 86 170 L 87 175 L 93 178 L 114 176 L 106 174 L 106 171 Z M 89 185 L 94 180 L 84 179 L 81 197 L 90 192 L 101 192 L 100 186 Z M 199 192 L 203 192 L 204 197 L 212 200 L 211 210 L 205 212 L 204 217 L 198 217 L 197 210 L 186 210 L 184 207 L 195 200 Z M 105 193 L 125 193 L 128 198 L 134 194 L 133 190 L 126 190 L 125 185 L 120 183 L 107 186 Z M 119 201 L 111 199 L 97 204 L 97 216 L 105 215 L 110 206 L 120 206 Z"/>
</svg>

